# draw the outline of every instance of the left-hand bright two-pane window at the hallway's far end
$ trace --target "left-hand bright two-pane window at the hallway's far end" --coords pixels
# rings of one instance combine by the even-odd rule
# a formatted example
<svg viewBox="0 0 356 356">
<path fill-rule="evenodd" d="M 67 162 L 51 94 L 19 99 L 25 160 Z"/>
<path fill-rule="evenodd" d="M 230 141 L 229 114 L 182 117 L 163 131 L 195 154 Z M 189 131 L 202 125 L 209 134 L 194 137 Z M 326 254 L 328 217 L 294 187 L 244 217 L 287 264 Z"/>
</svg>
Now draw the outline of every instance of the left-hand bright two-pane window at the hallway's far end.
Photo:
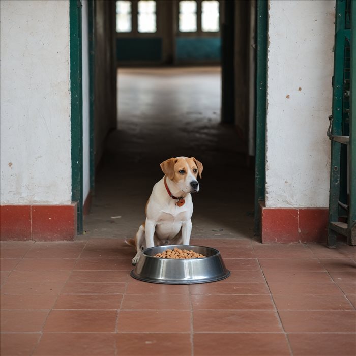
<svg viewBox="0 0 356 356">
<path fill-rule="evenodd" d="M 157 32 L 156 1 L 117 0 L 116 32 L 154 33 Z"/>
</svg>

